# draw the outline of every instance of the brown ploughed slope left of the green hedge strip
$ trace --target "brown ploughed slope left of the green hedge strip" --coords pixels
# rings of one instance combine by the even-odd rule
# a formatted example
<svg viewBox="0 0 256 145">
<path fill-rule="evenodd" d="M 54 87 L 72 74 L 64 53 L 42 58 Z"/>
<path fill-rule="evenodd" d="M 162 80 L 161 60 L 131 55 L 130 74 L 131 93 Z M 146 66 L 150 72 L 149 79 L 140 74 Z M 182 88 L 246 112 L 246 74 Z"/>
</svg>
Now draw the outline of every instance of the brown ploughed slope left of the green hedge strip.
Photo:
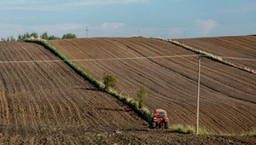
<svg viewBox="0 0 256 145">
<path fill-rule="evenodd" d="M 115 131 L 147 125 L 38 44 L 0 43 L 0 59 L 3 134 Z"/>
</svg>

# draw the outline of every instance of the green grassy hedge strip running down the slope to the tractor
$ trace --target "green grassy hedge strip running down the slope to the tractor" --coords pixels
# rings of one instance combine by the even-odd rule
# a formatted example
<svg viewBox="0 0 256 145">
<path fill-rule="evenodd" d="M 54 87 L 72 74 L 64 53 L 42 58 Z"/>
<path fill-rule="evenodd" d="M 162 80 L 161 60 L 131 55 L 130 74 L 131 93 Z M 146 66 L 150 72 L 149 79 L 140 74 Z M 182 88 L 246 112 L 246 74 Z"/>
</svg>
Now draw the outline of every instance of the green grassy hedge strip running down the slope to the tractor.
<svg viewBox="0 0 256 145">
<path fill-rule="evenodd" d="M 126 105 L 132 108 L 132 110 L 138 114 L 142 119 L 146 120 L 147 122 L 150 122 L 153 113 L 149 111 L 147 107 L 138 107 L 138 102 L 132 99 L 129 96 L 123 96 L 120 95 L 116 90 L 110 89 L 110 90 L 105 90 L 105 85 L 102 84 L 99 80 L 96 78 L 90 76 L 89 73 L 84 72 L 83 69 L 75 65 L 72 61 L 70 61 L 66 55 L 62 55 L 61 52 L 58 49 L 55 49 L 52 45 L 47 43 L 44 39 L 28 39 L 25 41 L 26 43 L 34 43 L 34 44 L 39 44 L 43 46 L 45 49 L 48 49 L 51 53 L 54 55 L 58 56 L 62 61 L 64 61 L 69 67 L 71 67 L 76 73 L 78 73 L 81 77 L 86 79 L 87 81 L 90 82 L 90 84 L 94 84 L 97 89 L 102 90 L 103 92 L 108 93 L 109 95 L 117 98 L 119 101 L 124 102 Z"/>
</svg>

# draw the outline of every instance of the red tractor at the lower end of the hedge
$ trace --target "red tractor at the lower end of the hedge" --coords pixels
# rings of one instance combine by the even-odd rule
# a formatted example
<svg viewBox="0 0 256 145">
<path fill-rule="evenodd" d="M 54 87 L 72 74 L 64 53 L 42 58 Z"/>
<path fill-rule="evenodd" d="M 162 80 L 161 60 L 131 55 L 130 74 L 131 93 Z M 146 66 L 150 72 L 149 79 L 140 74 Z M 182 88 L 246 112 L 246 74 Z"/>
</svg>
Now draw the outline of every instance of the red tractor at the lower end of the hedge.
<svg viewBox="0 0 256 145">
<path fill-rule="evenodd" d="M 154 117 L 150 123 L 150 128 L 160 129 L 162 127 L 165 127 L 166 129 L 169 128 L 169 119 L 167 118 L 166 110 L 156 109 L 154 111 Z"/>
</svg>

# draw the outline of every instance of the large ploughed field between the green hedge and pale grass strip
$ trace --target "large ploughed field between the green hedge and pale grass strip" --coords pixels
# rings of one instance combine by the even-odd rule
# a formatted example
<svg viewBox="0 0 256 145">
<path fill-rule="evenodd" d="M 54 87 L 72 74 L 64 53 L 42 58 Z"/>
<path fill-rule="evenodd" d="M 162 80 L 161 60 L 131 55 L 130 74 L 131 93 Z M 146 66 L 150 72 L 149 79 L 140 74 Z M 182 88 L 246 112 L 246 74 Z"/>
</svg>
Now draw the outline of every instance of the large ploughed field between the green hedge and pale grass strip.
<svg viewBox="0 0 256 145">
<path fill-rule="evenodd" d="M 103 73 L 116 76 L 116 90 L 122 94 L 137 99 L 137 90 L 142 85 L 146 86 L 148 108 L 152 111 L 155 108 L 166 109 L 171 124 L 195 126 L 196 57 L 120 59 L 195 55 L 193 52 L 150 38 L 80 38 L 49 43 L 69 59 L 77 60 L 73 62 L 97 79 L 102 80 Z M 104 61 L 114 58 L 118 59 Z M 201 128 L 217 133 L 255 130 L 255 88 L 255 74 L 202 58 Z"/>
</svg>

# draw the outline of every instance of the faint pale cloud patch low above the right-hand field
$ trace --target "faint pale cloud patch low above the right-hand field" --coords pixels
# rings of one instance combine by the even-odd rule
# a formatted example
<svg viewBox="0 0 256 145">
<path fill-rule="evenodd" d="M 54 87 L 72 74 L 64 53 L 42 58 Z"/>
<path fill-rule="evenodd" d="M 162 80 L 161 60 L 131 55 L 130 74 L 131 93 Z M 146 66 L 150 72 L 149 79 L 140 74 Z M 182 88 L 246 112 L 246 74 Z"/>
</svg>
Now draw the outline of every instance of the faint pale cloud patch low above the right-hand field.
<svg viewBox="0 0 256 145">
<path fill-rule="evenodd" d="M 202 32 L 203 35 L 207 36 L 212 30 L 218 26 L 216 20 L 195 20 L 196 31 Z"/>
</svg>

